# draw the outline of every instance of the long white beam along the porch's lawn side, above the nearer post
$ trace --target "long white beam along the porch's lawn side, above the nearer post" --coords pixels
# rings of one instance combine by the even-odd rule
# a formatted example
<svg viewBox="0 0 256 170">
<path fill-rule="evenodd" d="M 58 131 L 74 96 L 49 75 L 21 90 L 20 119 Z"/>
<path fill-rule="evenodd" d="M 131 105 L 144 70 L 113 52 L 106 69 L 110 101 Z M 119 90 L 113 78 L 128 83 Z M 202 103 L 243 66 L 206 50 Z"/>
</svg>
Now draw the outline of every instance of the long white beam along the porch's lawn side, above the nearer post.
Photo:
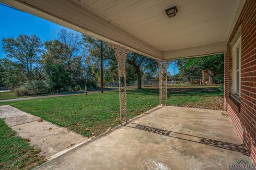
<svg viewBox="0 0 256 170">
<path fill-rule="evenodd" d="M 158 49 L 79 2 L 73 0 L 0 0 L 0 2 L 86 35 L 123 46 L 135 53 L 162 60 L 162 54 Z"/>
</svg>

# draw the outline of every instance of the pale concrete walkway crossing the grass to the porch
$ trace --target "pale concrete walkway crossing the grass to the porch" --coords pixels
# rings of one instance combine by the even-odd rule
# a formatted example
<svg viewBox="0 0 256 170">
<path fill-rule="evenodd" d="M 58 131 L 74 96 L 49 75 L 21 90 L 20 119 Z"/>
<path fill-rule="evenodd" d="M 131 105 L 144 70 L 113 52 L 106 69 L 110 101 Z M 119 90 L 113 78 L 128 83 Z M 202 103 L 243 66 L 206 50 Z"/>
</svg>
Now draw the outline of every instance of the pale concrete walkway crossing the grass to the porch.
<svg viewBox="0 0 256 170">
<path fill-rule="evenodd" d="M 87 138 L 9 105 L 0 106 L 0 118 L 31 145 L 42 149 L 46 159 L 84 142 Z"/>
</svg>

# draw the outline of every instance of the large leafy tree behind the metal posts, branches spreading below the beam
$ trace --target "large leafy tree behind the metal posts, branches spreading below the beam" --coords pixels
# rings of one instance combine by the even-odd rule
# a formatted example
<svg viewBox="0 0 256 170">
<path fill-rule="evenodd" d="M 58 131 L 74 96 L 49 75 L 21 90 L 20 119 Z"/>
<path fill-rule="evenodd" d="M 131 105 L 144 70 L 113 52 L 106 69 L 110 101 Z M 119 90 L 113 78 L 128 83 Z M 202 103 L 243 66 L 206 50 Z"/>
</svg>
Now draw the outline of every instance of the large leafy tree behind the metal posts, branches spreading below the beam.
<svg viewBox="0 0 256 170">
<path fill-rule="evenodd" d="M 86 61 L 99 68 L 100 40 L 87 35 L 83 35 L 83 40 L 85 42 L 85 49 L 89 52 Z M 103 49 L 105 67 L 104 77 L 106 81 L 116 81 L 118 80 L 118 63 L 116 61 L 115 52 L 108 47 L 107 43 L 103 43 Z M 147 71 L 156 71 L 157 68 L 156 60 L 137 53 L 128 54 L 126 63 L 126 83 L 132 84 L 132 82 L 137 79 L 138 89 L 141 89 L 141 78 L 143 73 Z"/>
</svg>

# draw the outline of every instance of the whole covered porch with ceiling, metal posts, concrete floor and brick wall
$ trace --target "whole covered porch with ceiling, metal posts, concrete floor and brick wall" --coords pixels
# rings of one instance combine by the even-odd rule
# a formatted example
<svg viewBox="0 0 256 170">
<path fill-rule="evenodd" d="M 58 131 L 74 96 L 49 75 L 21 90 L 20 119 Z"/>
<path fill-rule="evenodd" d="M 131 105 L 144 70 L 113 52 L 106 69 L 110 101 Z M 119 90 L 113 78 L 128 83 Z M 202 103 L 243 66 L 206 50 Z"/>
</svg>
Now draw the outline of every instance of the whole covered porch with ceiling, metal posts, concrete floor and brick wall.
<svg viewBox="0 0 256 170">
<path fill-rule="evenodd" d="M 118 61 L 122 125 L 37 169 L 227 169 L 249 156 L 256 163 L 255 1 L 1 2 L 108 42 Z M 174 6 L 178 13 L 169 18 L 165 10 Z M 130 52 L 159 64 L 160 106 L 132 121 L 126 116 Z M 228 114 L 161 106 L 170 60 L 223 53 Z"/>
</svg>

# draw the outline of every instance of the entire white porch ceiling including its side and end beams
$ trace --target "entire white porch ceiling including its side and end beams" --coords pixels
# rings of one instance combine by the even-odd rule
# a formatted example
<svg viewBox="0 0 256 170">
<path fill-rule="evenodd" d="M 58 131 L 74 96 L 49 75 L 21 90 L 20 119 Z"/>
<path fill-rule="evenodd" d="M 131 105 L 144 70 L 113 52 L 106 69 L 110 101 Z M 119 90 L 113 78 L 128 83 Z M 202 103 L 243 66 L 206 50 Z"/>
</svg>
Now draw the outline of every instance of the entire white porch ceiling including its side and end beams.
<svg viewBox="0 0 256 170">
<path fill-rule="evenodd" d="M 244 0 L 0 0 L 134 52 L 168 60 L 223 53 Z M 168 18 L 167 8 L 178 13 Z"/>
</svg>

